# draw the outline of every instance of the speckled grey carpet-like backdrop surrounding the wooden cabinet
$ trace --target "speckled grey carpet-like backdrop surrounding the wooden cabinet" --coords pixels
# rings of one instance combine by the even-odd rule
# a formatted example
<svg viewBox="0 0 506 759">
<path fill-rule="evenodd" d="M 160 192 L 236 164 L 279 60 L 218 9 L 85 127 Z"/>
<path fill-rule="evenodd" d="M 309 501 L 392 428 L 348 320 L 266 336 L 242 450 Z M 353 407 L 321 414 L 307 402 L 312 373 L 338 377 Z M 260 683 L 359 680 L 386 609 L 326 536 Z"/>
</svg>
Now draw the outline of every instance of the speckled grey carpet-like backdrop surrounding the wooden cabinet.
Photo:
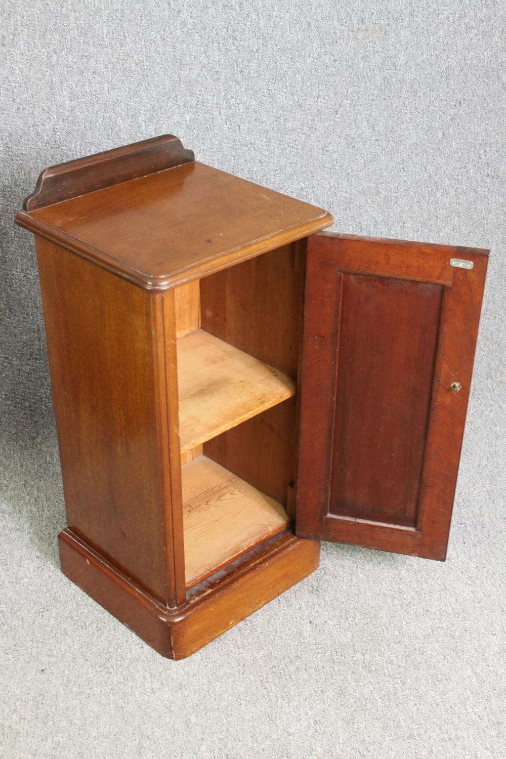
<svg viewBox="0 0 506 759">
<path fill-rule="evenodd" d="M 504 5 L 0 13 L 0 757 L 504 757 Z M 167 131 L 339 231 L 492 248 L 447 562 L 324 543 L 318 572 L 180 663 L 58 570 L 36 261 L 12 222 L 47 165 Z"/>
</svg>

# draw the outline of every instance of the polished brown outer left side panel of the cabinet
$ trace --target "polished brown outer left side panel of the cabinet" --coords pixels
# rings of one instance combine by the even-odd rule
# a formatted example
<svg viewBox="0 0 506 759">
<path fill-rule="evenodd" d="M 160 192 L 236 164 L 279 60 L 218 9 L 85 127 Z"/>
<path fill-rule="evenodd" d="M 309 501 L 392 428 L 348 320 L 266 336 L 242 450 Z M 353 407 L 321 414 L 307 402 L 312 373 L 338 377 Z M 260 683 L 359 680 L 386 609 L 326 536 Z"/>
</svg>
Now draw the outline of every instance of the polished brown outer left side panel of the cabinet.
<svg viewBox="0 0 506 759">
<path fill-rule="evenodd" d="M 68 526 L 165 601 L 152 296 L 36 245 Z"/>
</svg>

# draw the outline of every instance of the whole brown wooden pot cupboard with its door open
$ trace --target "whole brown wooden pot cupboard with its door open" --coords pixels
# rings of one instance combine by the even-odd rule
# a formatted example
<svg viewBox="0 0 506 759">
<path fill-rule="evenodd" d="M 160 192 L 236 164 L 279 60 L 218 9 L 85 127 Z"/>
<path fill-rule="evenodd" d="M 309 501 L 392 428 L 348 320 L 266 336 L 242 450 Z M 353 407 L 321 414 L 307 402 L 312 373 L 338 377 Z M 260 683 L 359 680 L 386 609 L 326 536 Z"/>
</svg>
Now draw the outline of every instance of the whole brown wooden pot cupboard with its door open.
<svg viewBox="0 0 506 759">
<path fill-rule="evenodd" d="M 487 250 L 322 232 L 172 135 L 46 168 L 61 568 L 181 659 L 320 540 L 445 559 Z"/>
</svg>

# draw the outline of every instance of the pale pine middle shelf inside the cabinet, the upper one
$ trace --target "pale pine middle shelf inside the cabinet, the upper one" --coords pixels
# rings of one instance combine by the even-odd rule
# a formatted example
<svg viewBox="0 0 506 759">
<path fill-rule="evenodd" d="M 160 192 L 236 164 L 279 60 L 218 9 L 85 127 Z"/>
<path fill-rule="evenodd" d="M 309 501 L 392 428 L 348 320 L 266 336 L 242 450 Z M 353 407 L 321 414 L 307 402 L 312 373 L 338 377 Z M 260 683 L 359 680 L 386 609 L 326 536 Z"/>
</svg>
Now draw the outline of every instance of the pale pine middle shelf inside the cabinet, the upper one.
<svg viewBox="0 0 506 759">
<path fill-rule="evenodd" d="M 178 339 L 181 453 L 295 395 L 294 379 L 203 329 Z"/>
</svg>

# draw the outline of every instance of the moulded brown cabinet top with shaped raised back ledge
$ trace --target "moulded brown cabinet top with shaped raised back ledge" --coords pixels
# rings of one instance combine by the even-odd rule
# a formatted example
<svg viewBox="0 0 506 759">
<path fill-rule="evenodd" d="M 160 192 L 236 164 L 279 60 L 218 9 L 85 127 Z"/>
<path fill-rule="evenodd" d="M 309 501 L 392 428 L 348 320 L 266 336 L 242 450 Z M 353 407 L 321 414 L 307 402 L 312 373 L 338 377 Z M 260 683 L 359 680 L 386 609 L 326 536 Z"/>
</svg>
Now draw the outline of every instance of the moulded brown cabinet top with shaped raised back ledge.
<svg viewBox="0 0 506 759">
<path fill-rule="evenodd" d="M 18 224 L 152 289 L 332 224 L 323 209 L 195 162 L 171 135 L 46 169 L 24 208 Z"/>
</svg>

